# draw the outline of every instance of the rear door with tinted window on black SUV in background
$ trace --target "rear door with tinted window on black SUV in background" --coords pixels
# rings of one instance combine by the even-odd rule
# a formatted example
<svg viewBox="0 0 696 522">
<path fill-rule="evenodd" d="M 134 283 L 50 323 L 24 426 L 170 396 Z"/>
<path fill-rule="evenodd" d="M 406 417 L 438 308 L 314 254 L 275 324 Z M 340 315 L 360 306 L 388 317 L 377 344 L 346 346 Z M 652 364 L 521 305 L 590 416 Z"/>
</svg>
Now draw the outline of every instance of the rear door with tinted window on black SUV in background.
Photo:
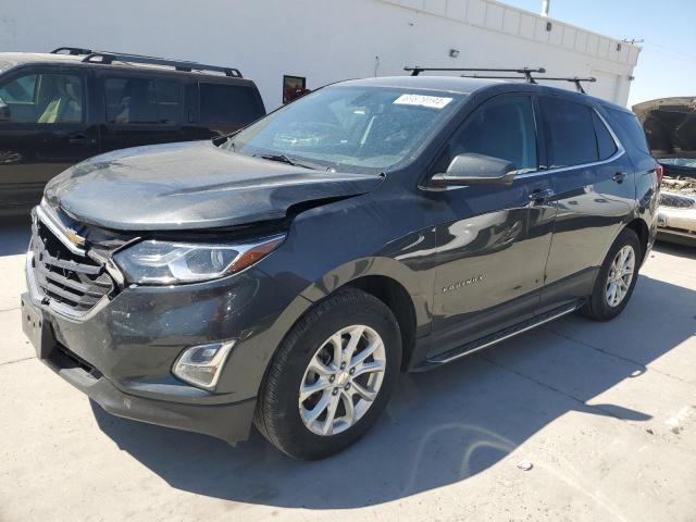
<svg viewBox="0 0 696 522">
<path fill-rule="evenodd" d="M 181 75 L 108 71 L 100 74 L 102 151 L 191 139 Z"/>
</svg>

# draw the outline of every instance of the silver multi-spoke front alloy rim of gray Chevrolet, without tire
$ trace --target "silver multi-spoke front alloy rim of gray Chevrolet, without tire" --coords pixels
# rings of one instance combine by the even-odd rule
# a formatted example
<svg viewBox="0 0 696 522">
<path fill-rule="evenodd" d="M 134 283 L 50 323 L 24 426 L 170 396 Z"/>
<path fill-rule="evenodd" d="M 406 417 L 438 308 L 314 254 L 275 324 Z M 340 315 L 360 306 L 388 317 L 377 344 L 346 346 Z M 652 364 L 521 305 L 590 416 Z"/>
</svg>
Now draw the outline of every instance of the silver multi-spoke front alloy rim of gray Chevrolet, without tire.
<svg viewBox="0 0 696 522">
<path fill-rule="evenodd" d="M 374 403 L 386 369 L 382 337 L 353 325 L 328 337 L 309 362 L 299 389 L 300 417 L 316 435 L 356 424 Z"/>
</svg>

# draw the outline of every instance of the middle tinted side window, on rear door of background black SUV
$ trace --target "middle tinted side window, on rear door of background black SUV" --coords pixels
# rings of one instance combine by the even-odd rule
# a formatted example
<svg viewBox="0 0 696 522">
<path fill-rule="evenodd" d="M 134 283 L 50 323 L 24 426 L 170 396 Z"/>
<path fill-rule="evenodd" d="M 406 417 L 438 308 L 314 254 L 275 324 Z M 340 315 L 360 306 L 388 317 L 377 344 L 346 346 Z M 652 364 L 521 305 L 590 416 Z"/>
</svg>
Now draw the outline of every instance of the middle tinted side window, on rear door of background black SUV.
<svg viewBox="0 0 696 522">
<path fill-rule="evenodd" d="M 182 86 L 169 79 L 107 78 L 107 122 L 173 125 L 181 122 Z"/>
</svg>

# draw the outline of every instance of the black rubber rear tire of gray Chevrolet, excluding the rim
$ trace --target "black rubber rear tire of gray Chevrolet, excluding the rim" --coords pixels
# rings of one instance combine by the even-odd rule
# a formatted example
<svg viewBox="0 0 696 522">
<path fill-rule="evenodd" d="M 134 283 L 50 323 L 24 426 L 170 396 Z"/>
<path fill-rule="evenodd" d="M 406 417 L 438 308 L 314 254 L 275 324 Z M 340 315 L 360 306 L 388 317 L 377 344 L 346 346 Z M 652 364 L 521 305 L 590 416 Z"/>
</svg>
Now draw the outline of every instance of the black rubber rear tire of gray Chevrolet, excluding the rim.
<svg viewBox="0 0 696 522">
<path fill-rule="evenodd" d="M 629 284 L 629 288 L 625 290 L 625 295 L 621 301 L 616 306 L 611 306 L 607 298 L 607 287 L 609 286 L 609 278 L 612 275 L 612 264 L 617 259 L 617 254 L 626 247 L 633 250 L 634 256 L 631 283 Z M 641 248 L 638 236 L 631 228 L 624 228 L 619 234 L 619 237 L 613 241 L 613 245 L 611 245 L 605 261 L 601 263 L 592 296 L 589 296 L 589 299 L 581 309 L 583 315 L 595 321 L 609 321 L 619 315 L 631 299 L 633 288 L 635 287 L 635 283 L 638 278 L 638 269 L 641 266 L 642 259 L 643 249 Z"/>
</svg>

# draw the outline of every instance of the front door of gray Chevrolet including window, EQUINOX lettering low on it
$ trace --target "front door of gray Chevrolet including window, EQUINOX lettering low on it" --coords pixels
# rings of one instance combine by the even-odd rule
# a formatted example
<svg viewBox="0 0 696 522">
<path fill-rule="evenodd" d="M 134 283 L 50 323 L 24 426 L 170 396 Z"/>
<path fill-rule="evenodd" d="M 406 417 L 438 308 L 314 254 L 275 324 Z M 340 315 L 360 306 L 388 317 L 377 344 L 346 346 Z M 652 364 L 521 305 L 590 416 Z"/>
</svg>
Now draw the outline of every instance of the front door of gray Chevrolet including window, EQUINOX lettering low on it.
<svg viewBox="0 0 696 522">
<path fill-rule="evenodd" d="M 531 318 L 538 306 L 555 206 L 539 170 L 534 100 L 501 95 L 474 110 L 438 160 L 474 152 L 514 163 L 511 186 L 452 188 L 436 197 L 451 219 L 437 225 L 434 297 L 437 355 Z"/>
</svg>

